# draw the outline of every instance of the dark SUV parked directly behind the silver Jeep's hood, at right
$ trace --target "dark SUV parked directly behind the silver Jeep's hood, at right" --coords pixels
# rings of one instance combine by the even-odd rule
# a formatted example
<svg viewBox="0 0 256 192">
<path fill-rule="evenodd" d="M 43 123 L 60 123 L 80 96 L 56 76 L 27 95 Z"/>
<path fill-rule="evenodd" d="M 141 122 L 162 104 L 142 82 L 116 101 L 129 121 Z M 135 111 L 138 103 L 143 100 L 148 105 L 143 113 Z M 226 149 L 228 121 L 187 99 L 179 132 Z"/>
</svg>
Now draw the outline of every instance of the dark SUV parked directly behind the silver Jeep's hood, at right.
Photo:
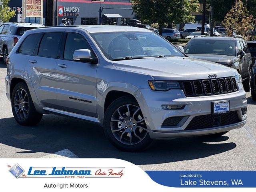
<svg viewBox="0 0 256 192">
<path fill-rule="evenodd" d="M 243 38 L 197 37 L 184 47 L 190 57 L 208 60 L 234 68 L 242 77 L 244 90 L 251 89 L 252 56 Z"/>
</svg>

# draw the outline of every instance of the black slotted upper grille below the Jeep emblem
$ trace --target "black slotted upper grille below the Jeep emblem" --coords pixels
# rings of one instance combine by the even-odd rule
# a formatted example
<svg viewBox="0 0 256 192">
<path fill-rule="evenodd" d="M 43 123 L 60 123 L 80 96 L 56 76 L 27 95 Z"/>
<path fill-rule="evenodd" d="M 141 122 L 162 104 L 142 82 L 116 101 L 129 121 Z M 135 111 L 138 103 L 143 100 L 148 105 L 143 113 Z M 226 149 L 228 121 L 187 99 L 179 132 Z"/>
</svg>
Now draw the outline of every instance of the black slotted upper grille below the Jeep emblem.
<svg viewBox="0 0 256 192">
<path fill-rule="evenodd" d="M 187 97 L 207 96 L 236 92 L 238 90 L 234 77 L 181 82 Z"/>
</svg>

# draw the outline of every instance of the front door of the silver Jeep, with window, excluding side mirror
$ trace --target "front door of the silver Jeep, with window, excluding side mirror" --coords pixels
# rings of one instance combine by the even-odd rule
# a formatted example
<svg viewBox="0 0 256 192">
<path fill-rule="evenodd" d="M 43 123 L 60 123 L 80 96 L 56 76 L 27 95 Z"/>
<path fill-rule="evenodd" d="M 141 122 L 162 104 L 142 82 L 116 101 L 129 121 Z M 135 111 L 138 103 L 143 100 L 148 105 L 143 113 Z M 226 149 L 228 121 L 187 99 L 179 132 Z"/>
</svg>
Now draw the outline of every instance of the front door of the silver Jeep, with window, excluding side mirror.
<svg viewBox="0 0 256 192">
<path fill-rule="evenodd" d="M 96 116 L 97 64 L 73 60 L 78 49 L 91 50 L 86 37 L 78 32 L 67 32 L 62 44 L 61 58 L 56 65 L 56 94 L 58 109 L 75 114 Z"/>
</svg>

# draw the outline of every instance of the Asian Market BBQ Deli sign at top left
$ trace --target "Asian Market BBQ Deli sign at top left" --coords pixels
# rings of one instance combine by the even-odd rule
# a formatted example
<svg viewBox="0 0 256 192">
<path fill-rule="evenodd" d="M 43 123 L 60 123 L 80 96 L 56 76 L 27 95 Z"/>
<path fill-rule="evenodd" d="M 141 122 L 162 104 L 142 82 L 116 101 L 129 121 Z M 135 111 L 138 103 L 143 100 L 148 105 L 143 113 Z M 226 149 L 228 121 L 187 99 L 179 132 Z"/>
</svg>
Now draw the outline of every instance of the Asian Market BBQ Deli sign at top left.
<svg viewBox="0 0 256 192">
<path fill-rule="evenodd" d="M 43 0 L 24 0 L 26 17 L 41 17 L 43 11 Z"/>
</svg>

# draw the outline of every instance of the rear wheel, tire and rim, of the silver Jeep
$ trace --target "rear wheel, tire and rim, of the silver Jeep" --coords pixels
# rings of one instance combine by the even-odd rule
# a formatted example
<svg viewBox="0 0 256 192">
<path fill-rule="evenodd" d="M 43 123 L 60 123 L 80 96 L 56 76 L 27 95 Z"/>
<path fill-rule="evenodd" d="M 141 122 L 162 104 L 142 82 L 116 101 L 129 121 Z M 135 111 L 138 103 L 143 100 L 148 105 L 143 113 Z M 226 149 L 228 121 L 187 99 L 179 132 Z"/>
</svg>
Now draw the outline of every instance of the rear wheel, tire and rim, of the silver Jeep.
<svg viewBox="0 0 256 192">
<path fill-rule="evenodd" d="M 16 84 L 12 91 L 12 114 L 20 125 L 35 125 L 43 114 L 36 111 L 28 86 L 24 82 Z"/>
</svg>

